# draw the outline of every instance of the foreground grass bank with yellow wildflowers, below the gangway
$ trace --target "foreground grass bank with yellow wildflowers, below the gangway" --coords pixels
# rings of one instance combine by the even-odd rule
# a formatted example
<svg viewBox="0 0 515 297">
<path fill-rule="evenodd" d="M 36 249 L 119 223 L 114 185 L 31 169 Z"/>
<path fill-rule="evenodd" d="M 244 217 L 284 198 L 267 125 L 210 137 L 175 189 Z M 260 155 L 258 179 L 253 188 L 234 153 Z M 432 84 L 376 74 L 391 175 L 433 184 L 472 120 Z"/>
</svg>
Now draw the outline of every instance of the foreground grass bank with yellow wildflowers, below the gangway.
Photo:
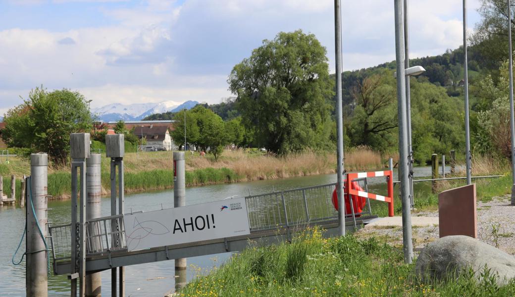
<svg viewBox="0 0 515 297">
<path fill-rule="evenodd" d="M 249 248 L 200 274 L 181 296 L 513 296 L 515 281 L 497 286 L 486 272 L 424 283 L 402 249 L 352 235 L 323 239 L 317 229 L 291 243 Z M 203 272 L 203 274 L 202 274 Z M 207 273 L 207 274 L 206 274 Z"/>
</svg>

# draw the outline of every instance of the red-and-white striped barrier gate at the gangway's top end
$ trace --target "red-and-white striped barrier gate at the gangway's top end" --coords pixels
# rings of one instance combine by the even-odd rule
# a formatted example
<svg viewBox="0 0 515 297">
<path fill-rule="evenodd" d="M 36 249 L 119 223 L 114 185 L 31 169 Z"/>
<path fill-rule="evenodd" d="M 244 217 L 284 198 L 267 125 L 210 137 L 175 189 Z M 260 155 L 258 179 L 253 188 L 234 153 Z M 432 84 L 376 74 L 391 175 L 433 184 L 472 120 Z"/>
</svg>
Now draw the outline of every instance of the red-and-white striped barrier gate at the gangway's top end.
<svg viewBox="0 0 515 297">
<path fill-rule="evenodd" d="M 351 187 L 352 180 L 361 178 L 374 178 L 374 177 L 386 177 L 388 196 L 381 196 L 372 194 L 364 191 L 355 190 Z M 388 203 L 388 216 L 393 217 L 393 171 L 371 171 L 371 172 L 356 172 L 347 173 L 347 179 L 345 181 L 345 187 L 347 188 L 347 195 L 356 195 L 358 197 L 364 197 Z"/>
</svg>

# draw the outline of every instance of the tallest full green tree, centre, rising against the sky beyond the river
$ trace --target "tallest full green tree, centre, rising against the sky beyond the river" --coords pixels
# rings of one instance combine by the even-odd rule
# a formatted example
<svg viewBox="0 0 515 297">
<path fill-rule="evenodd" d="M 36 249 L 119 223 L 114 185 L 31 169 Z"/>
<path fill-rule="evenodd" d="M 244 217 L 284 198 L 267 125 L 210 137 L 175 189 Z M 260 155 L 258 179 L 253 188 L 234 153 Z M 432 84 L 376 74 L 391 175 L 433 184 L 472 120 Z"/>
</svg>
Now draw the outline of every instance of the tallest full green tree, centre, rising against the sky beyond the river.
<svg viewBox="0 0 515 297">
<path fill-rule="evenodd" d="M 314 34 L 280 32 L 234 66 L 229 89 L 260 146 L 288 153 L 328 145 L 334 92 L 325 55 Z"/>
</svg>

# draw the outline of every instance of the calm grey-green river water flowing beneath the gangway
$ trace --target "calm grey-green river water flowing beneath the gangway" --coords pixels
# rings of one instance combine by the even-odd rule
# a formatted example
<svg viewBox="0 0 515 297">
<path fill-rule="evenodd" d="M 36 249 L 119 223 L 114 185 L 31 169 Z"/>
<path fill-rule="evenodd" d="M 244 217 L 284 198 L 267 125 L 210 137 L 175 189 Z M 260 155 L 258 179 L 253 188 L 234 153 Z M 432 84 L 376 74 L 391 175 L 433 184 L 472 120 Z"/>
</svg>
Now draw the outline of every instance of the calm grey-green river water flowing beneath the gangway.
<svg viewBox="0 0 515 297">
<path fill-rule="evenodd" d="M 449 169 L 448 169 L 449 170 Z M 397 170 L 395 170 L 397 171 Z M 430 167 L 416 167 L 415 177 L 427 177 L 431 175 Z M 394 180 L 398 180 L 395 173 Z M 336 174 L 322 174 L 318 176 L 274 179 L 233 184 L 218 184 L 200 187 L 186 188 L 186 204 L 198 204 L 222 200 L 229 196 L 245 197 L 250 194 L 263 194 L 272 190 L 287 190 L 299 187 L 314 186 L 336 182 Z M 384 178 L 371 179 L 369 190 L 376 190 L 377 194 L 386 194 Z M 429 183 L 416 183 L 415 191 L 427 191 Z M 398 187 L 396 187 L 397 189 Z M 383 192 L 383 193 L 381 193 Z M 125 196 L 125 209 L 132 211 L 152 211 L 173 206 L 174 191 L 152 191 L 150 193 L 131 194 Z M 52 225 L 70 223 L 70 201 L 51 201 L 48 207 L 49 221 Z M 102 199 L 102 215 L 110 215 L 110 200 L 108 197 Z M 372 208 L 373 212 L 373 208 Z M 19 266 L 11 263 L 14 253 L 25 226 L 25 209 L 14 206 L 3 206 L 0 208 L 0 295 L 2 296 L 24 296 L 25 295 L 25 260 Z M 21 250 L 25 250 L 25 240 L 22 242 Z M 16 260 L 20 258 L 20 252 Z M 214 266 L 221 265 L 231 253 L 222 253 L 210 256 L 199 256 L 187 259 L 187 280 L 190 281 L 202 269 L 209 271 Z M 195 266 L 197 269 L 190 267 Z M 143 265 L 126 267 L 126 295 L 127 296 L 163 296 L 174 288 L 174 261 L 161 261 Z M 102 272 L 102 287 L 110 290 L 111 272 Z M 105 293 L 106 294 L 106 293 Z M 66 276 L 50 276 L 48 279 L 49 296 L 70 295 L 70 282 Z M 107 295 L 107 294 L 106 294 Z"/>
</svg>

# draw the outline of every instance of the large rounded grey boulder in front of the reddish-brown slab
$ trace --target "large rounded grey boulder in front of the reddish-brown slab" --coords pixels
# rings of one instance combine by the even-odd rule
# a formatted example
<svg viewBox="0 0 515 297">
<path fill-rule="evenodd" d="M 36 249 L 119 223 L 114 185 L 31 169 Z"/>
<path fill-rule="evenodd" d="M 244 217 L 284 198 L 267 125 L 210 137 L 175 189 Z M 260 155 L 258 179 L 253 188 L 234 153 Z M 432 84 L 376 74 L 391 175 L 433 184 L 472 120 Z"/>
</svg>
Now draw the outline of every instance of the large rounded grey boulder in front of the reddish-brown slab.
<svg viewBox="0 0 515 297">
<path fill-rule="evenodd" d="M 476 278 L 485 269 L 497 276 L 497 284 L 515 277 L 515 258 L 469 236 L 445 236 L 428 244 L 417 259 L 415 272 L 427 278 L 449 279 L 472 268 Z"/>
</svg>

